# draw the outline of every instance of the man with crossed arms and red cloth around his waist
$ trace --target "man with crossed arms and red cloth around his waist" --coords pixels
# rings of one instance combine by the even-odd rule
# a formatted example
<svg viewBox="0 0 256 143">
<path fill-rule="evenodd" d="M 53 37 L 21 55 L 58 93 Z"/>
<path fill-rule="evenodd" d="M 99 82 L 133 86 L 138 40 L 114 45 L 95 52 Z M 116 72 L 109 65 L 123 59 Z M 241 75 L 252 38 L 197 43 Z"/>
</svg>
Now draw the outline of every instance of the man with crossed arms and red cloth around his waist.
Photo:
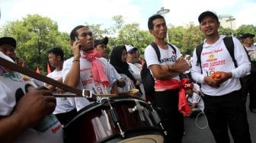
<svg viewBox="0 0 256 143">
<path fill-rule="evenodd" d="M 148 27 L 160 52 L 160 60 L 151 45 L 147 46 L 144 52 L 147 68 L 155 78 L 155 93 L 152 93 L 153 107 L 168 132 L 166 142 L 181 142 L 184 135 L 184 118 L 181 113 L 183 111 L 179 110 L 182 108 L 178 106 L 179 89 L 182 86 L 178 75 L 187 71 L 189 65 L 177 46 L 165 43 L 168 28 L 162 15 L 154 14 L 149 17 Z"/>
</svg>

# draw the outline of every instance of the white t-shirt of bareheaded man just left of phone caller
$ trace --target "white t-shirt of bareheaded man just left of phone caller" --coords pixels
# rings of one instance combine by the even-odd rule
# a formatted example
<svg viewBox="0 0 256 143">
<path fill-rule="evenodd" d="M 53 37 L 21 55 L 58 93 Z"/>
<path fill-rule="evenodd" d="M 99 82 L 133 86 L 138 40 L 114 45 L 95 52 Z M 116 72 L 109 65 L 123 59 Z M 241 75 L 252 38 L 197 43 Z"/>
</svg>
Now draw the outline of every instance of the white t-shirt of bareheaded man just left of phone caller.
<svg viewBox="0 0 256 143">
<path fill-rule="evenodd" d="M 53 78 L 55 80 L 62 78 L 62 71 L 56 71 L 49 73 L 47 75 L 49 78 Z M 54 93 L 59 94 L 59 93 Z M 63 93 L 63 94 L 70 94 L 69 92 Z M 71 110 L 74 110 L 75 103 L 73 103 L 72 97 L 57 97 L 56 98 L 56 108 L 53 112 L 53 114 L 59 114 L 59 113 L 67 113 Z"/>
</svg>

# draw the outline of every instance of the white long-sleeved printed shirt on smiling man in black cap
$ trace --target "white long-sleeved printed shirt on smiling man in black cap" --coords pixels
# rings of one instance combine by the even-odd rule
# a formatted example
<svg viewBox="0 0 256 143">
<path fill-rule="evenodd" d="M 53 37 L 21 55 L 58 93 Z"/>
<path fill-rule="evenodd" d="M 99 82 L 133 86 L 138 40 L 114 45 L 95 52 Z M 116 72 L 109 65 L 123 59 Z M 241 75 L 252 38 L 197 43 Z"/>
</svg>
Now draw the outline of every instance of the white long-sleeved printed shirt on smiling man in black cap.
<svg viewBox="0 0 256 143">
<path fill-rule="evenodd" d="M 232 91 L 238 91 L 241 88 L 239 78 L 250 72 L 251 63 L 240 41 L 233 37 L 234 56 L 238 65 L 238 68 L 235 68 L 229 51 L 222 40 L 224 37 L 225 36 L 220 36 L 219 40 L 213 43 L 213 45 L 208 45 L 204 41 L 203 51 L 201 52 L 203 74 L 201 74 L 200 66 L 197 65 L 196 49 L 194 50 L 191 74 L 194 81 L 201 83 L 201 91 L 203 94 L 222 96 Z M 220 87 L 210 87 L 210 85 L 203 81 L 203 78 L 207 75 L 211 75 L 213 71 L 231 71 L 232 78 L 220 84 Z"/>
</svg>

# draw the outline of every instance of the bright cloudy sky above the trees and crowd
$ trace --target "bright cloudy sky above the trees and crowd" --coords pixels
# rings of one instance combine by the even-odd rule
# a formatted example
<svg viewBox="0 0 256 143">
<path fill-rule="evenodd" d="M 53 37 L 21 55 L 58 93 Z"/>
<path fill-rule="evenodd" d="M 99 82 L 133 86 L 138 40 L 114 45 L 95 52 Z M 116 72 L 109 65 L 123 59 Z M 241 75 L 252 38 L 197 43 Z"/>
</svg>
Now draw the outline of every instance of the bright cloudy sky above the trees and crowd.
<svg viewBox="0 0 256 143">
<path fill-rule="evenodd" d="M 174 26 L 198 25 L 197 17 L 206 10 L 232 15 L 236 27 L 256 26 L 256 0 L 0 0 L 0 27 L 27 14 L 40 14 L 56 21 L 60 31 L 70 33 L 85 22 L 113 27 L 112 17 L 123 15 L 125 24 L 135 22 L 147 30 L 148 18 L 162 7 L 169 9 L 164 15 L 166 23 Z"/>
</svg>

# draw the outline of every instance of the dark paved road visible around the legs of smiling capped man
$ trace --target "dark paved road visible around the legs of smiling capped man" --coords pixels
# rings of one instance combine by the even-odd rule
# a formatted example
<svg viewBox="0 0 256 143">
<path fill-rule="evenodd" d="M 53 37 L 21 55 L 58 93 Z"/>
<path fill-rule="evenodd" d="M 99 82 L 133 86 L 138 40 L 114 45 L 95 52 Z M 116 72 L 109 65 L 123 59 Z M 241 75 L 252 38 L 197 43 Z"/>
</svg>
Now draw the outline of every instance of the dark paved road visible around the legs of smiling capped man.
<svg viewBox="0 0 256 143">
<path fill-rule="evenodd" d="M 250 126 L 251 142 L 256 143 L 256 113 L 251 113 L 247 106 L 247 116 Z M 185 132 L 183 143 L 215 143 L 212 133 L 209 127 L 200 129 L 195 124 L 195 119 L 186 117 L 184 119 Z M 232 137 L 230 135 L 231 143 Z"/>
</svg>

